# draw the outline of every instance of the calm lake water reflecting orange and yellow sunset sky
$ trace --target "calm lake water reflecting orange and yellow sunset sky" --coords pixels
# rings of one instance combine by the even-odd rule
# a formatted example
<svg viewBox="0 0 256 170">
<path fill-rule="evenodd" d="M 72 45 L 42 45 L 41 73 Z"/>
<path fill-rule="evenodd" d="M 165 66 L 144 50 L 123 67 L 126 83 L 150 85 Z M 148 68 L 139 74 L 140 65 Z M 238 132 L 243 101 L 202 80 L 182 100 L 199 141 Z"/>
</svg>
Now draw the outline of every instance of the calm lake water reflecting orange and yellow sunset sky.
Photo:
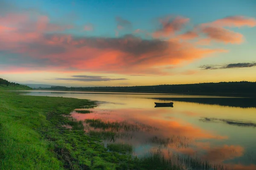
<svg viewBox="0 0 256 170">
<path fill-rule="evenodd" d="M 166 157 L 185 155 L 233 170 L 256 170 L 256 99 L 60 91 L 22 93 L 99 101 L 98 107 L 90 109 L 92 113 L 74 111 L 73 117 L 99 119 L 109 125 L 97 127 L 85 123 L 85 130 L 90 134 L 104 132 L 101 134 L 106 144 L 132 144 L 137 156 L 161 150 Z M 154 108 L 154 102 L 174 102 L 174 107 Z"/>
</svg>

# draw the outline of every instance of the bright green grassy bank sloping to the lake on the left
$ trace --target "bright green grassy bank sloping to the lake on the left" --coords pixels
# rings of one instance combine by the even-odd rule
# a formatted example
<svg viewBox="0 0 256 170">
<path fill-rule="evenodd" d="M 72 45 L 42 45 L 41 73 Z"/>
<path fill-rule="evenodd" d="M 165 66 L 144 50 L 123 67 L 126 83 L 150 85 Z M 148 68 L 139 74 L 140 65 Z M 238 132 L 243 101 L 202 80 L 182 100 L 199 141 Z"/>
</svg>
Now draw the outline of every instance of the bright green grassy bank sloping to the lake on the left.
<svg viewBox="0 0 256 170">
<path fill-rule="evenodd" d="M 104 158 L 107 148 L 99 139 L 85 135 L 79 122 L 62 116 L 93 104 L 0 91 L 0 169 L 115 169 L 117 161 Z"/>
</svg>

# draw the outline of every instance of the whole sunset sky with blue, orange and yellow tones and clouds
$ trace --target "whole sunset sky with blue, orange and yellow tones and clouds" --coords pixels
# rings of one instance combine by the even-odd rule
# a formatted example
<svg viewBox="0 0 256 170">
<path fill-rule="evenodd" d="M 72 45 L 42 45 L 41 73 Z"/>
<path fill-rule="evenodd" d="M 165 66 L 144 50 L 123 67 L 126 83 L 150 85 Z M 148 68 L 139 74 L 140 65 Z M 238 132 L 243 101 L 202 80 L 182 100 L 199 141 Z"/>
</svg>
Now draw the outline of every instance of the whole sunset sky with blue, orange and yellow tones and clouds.
<svg viewBox="0 0 256 170">
<path fill-rule="evenodd" d="M 0 77 L 84 87 L 256 82 L 256 1 L 0 0 Z"/>
</svg>

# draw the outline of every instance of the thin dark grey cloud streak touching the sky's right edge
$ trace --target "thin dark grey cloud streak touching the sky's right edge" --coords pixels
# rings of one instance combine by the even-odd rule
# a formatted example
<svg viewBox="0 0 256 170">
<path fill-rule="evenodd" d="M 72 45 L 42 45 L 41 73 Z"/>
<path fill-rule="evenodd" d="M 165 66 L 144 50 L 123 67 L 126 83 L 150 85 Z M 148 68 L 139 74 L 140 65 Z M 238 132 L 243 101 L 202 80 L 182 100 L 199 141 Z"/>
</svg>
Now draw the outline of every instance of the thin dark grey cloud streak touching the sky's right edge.
<svg viewBox="0 0 256 170">
<path fill-rule="evenodd" d="M 199 68 L 202 68 L 203 70 L 216 70 L 224 68 L 244 68 L 254 66 L 256 66 L 256 62 L 241 62 L 227 65 L 201 65 Z"/>
</svg>

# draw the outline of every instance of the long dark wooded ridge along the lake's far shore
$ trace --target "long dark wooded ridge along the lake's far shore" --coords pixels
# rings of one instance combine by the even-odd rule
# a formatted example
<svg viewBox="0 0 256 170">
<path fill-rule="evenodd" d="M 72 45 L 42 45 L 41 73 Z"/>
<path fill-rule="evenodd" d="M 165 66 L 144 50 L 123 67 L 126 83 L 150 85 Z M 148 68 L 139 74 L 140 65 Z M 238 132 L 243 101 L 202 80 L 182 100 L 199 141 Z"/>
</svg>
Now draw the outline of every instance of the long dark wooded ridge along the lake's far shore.
<svg viewBox="0 0 256 170">
<path fill-rule="evenodd" d="M 44 88 L 62 91 L 111 91 L 111 92 L 147 92 L 181 94 L 256 94 L 256 82 L 218 82 L 183 85 L 150 85 L 125 87 L 64 87 Z"/>
</svg>

